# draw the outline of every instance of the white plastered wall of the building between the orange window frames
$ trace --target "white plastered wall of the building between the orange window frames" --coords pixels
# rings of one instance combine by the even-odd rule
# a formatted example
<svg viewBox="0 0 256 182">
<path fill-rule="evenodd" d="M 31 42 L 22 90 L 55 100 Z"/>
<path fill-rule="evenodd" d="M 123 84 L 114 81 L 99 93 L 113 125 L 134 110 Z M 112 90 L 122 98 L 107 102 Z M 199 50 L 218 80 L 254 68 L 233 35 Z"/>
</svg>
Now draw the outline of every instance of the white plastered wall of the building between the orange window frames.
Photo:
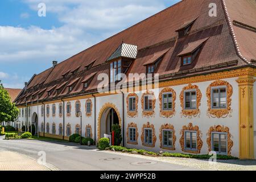
<svg viewBox="0 0 256 182">
<path fill-rule="evenodd" d="M 129 147 L 129 148 L 143 148 L 145 150 L 156 151 L 156 152 L 159 152 L 160 150 L 168 151 L 168 150 L 164 150 L 164 149 L 160 148 L 160 140 L 159 140 L 160 131 L 159 131 L 159 129 L 160 129 L 161 125 L 170 123 L 171 125 L 174 126 L 175 135 L 176 135 L 176 143 L 175 143 L 176 150 L 170 151 L 170 152 L 185 153 L 185 152 L 181 151 L 181 147 L 180 147 L 180 143 L 179 143 L 179 140 L 181 138 L 180 130 L 182 129 L 183 126 L 187 126 L 189 123 L 192 123 L 193 126 L 199 126 L 199 130 L 202 133 L 201 140 L 203 141 L 203 147 L 201 148 L 200 154 L 208 154 L 208 144 L 207 144 L 208 130 L 210 127 L 212 127 L 214 125 L 216 125 L 216 126 L 221 125 L 221 126 L 228 127 L 229 132 L 232 135 L 231 139 L 233 140 L 233 147 L 232 147 L 231 155 L 239 156 L 238 84 L 236 82 L 237 77 L 227 78 L 227 79 L 222 79 L 222 80 L 228 81 L 229 84 L 231 84 L 233 87 L 233 94 L 231 97 L 232 98 L 232 105 L 231 105 L 232 113 L 230 114 L 230 116 L 227 116 L 224 118 L 212 118 L 212 117 L 208 117 L 208 115 L 207 115 L 208 106 L 207 106 L 206 90 L 207 90 L 208 86 L 214 80 L 213 81 L 205 81 L 205 82 L 197 82 L 195 84 L 192 84 L 192 85 L 199 86 L 199 89 L 202 94 L 201 105 L 199 107 L 200 115 L 197 115 L 197 117 L 192 117 L 192 118 L 184 117 L 184 116 L 181 116 L 181 114 L 180 114 L 181 106 L 180 106 L 179 96 L 180 96 L 181 90 L 183 89 L 184 86 L 187 86 L 187 84 L 171 86 L 171 88 L 174 89 L 176 92 L 176 101 L 175 101 L 176 113 L 174 114 L 174 116 L 172 118 L 163 118 L 163 117 L 160 117 L 160 115 L 159 115 L 160 107 L 159 107 L 158 94 L 164 88 L 160 88 L 159 92 L 158 92 L 158 90 L 153 90 L 155 93 L 155 97 L 156 97 L 155 110 L 154 110 L 155 115 L 153 117 L 142 117 L 142 104 L 141 104 L 141 97 L 143 94 L 143 91 L 142 91 L 141 93 L 137 93 L 137 95 L 138 95 L 138 116 L 135 118 L 130 118 L 127 115 L 127 109 L 126 109 L 126 97 L 127 97 L 128 93 L 125 93 L 125 105 L 124 105 L 124 108 L 125 108 L 124 109 L 125 146 Z M 254 85 L 254 88 L 255 88 L 255 85 Z M 256 90 L 256 88 L 254 90 Z M 255 98 L 255 95 L 254 95 L 254 98 Z M 90 124 L 92 126 L 92 133 L 93 133 L 92 138 L 94 139 L 95 135 L 97 137 L 97 128 L 99 127 L 98 126 L 98 117 L 99 117 L 99 113 L 100 113 L 102 107 L 104 107 L 105 104 L 112 103 L 113 105 L 115 105 L 115 107 L 117 108 L 117 110 L 119 112 L 120 118 L 122 118 L 122 94 L 114 94 L 114 95 L 109 95 L 109 96 L 96 97 L 96 134 L 95 134 L 94 133 L 94 98 L 93 97 L 90 98 L 90 100 L 92 100 L 92 104 L 93 104 L 92 105 L 92 115 L 90 117 L 86 117 L 86 115 L 85 115 L 86 100 L 87 100 L 87 98 L 80 100 L 81 111 L 82 111 L 82 136 L 85 135 L 85 126 Z M 67 102 L 68 101 L 65 101 L 65 130 L 67 129 L 67 127 L 66 127 L 67 123 L 70 123 L 71 129 L 72 129 L 72 134 L 73 134 L 73 133 L 75 133 L 76 124 L 80 125 L 80 117 L 75 116 L 76 100 L 70 101 L 71 105 L 72 105 L 72 113 L 71 113 L 71 117 L 67 117 L 67 113 L 66 113 Z M 51 109 L 52 104 L 49 104 L 50 114 L 49 114 L 49 117 L 46 117 L 46 123 L 49 122 L 49 126 L 50 126 L 49 127 L 50 134 L 51 134 L 53 122 L 55 122 L 55 124 L 56 124 L 56 134 L 58 134 L 59 123 L 63 123 L 63 118 L 59 118 L 59 102 L 56 102 L 55 104 L 56 104 L 56 116 L 52 117 L 52 109 Z M 255 104 L 255 102 L 254 102 L 254 104 Z M 34 113 L 34 112 L 37 113 L 37 107 L 38 106 L 32 106 L 32 113 Z M 41 105 L 39 105 L 39 114 L 38 114 L 39 131 L 40 131 L 40 125 L 43 122 L 43 117 L 40 114 L 40 111 L 41 111 L 40 108 L 41 108 Z M 254 110 L 255 110 L 255 108 L 256 108 L 256 106 L 254 107 Z M 32 114 L 31 114 L 31 117 L 32 117 Z M 26 121 L 26 119 L 24 117 L 19 117 L 19 121 Z M 30 118 L 30 121 L 31 121 L 31 118 Z M 255 118 L 254 118 L 254 121 L 255 121 Z M 126 130 L 127 130 L 127 125 L 131 122 L 137 123 L 137 128 L 138 128 L 138 133 L 139 133 L 137 145 L 127 143 Z M 142 140 L 141 140 L 142 127 L 143 127 L 143 124 L 146 124 L 147 122 L 150 122 L 150 124 L 153 124 L 154 128 L 155 128 L 156 143 L 155 143 L 154 148 L 145 147 L 142 145 Z"/>
</svg>

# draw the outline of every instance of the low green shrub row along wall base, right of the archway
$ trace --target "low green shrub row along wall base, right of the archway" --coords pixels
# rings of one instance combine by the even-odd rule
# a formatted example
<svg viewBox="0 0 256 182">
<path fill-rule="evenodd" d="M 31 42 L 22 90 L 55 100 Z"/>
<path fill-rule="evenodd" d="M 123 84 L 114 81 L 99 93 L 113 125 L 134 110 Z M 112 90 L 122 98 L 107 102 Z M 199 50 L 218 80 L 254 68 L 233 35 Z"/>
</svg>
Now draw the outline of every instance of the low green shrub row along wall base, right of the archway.
<svg viewBox="0 0 256 182">
<path fill-rule="evenodd" d="M 176 157 L 176 158 L 194 158 L 194 159 L 209 159 L 210 155 L 193 155 L 193 154 L 180 154 L 180 153 L 170 153 L 164 152 L 163 154 L 159 154 L 156 152 L 146 151 L 146 150 L 138 150 L 136 148 L 126 148 L 121 146 L 110 146 L 110 150 L 114 149 L 115 151 L 129 152 L 133 154 L 141 154 L 141 155 L 152 155 L 152 156 L 166 156 L 166 157 Z M 230 159 L 238 159 L 233 156 L 228 155 L 217 155 L 217 159 L 219 160 L 230 160 Z"/>
</svg>

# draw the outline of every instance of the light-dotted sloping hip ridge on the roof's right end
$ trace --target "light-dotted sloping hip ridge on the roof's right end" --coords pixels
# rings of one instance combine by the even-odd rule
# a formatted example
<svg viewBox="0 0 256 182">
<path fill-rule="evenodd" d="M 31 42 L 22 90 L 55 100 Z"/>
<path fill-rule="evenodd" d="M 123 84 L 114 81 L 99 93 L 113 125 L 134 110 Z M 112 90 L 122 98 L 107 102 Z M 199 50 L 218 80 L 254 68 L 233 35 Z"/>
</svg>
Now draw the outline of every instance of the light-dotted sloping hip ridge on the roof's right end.
<svg viewBox="0 0 256 182">
<path fill-rule="evenodd" d="M 238 46 L 238 43 L 237 43 L 237 39 L 236 39 L 236 34 L 234 32 L 234 28 L 233 28 L 233 25 L 232 25 L 232 22 L 231 22 L 231 19 L 230 19 L 230 16 L 229 16 L 229 13 L 228 13 L 228 8 L 226 7 L 226 2 L 225 0 L 221 0 L 222 1 L 222 5 L 223 5 L 223 8 L 224 8 L 224 14 L 226 15 L 226 19 L 228 20 L 228 27 L 231 31 L 231 35 L 232 35 L 232 38 L 233 38 L 233 42 L 234 42 L 234 46 L 236 47 L 236 51 L 238 53 L 238 56 L 240 56 L 240 58 L 245 61 L 247 64 L 251 64 L 250 61 L 248 61 L 245 57 L 243 57 L 241 51 L 240 51 L 240 48 Z"/>
</svg>

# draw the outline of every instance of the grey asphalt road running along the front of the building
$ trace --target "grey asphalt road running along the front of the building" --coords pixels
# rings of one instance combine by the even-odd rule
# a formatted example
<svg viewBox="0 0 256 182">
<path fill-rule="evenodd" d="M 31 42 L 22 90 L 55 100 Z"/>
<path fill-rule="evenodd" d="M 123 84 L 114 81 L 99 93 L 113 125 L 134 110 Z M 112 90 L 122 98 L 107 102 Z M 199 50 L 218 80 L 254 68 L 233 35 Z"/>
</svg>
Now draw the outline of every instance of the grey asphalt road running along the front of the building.
<svg viewBox="0 0 256 182">
<path fill-rule="evenodd" d="M 109 171 L 173 171 L 198 170 L 177 164 L 138 158 L 137 155 L 118 155 L 99 151 L 94 147 L 79 146 L 68 142 L 46 142 L 39 140 L 3 140 L 0 152 L 13 151 L 38 159 L 39 151 L 46 152 L 46 162 L 61 170 L 109 170 Z"/>
</svg>

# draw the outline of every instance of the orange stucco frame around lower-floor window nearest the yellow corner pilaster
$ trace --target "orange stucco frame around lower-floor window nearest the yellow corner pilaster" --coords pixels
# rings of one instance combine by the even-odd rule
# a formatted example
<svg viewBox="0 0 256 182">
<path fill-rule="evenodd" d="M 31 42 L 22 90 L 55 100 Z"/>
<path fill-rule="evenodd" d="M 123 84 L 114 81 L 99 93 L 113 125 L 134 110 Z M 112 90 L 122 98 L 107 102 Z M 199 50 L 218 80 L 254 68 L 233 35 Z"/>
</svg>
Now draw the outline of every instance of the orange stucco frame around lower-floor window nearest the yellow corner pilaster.
<svg viewBox="0 0 256 182">
<path fill-rule="evenodd" d="M 208 144 L 208 151 L 212 151 L 212 132 L 221 132 L 226 133 L 228 137 L 228 155 L 231 155 L 231 148 L 233 147 L 232 135 L 229 133 L 229 128 L 225 126 L 212 126 L 210 127 L 207 135 L 207 144 Z"/>
</svg>

